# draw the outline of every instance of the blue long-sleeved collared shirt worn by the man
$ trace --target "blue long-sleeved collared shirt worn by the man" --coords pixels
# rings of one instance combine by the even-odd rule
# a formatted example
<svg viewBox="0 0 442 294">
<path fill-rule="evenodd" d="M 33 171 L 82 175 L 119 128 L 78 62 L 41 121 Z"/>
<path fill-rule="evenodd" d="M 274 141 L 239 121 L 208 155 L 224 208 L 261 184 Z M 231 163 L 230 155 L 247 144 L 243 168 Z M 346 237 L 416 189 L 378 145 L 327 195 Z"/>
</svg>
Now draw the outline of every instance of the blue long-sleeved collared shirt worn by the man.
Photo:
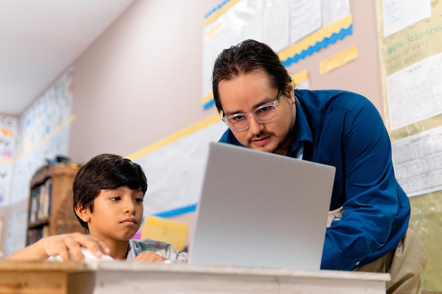
<svg viewBox="0 0 442 294">
<path fill-rule="evenodd" d="M 410 218 L 410 201 L 395 179 L 382 118 L 368 99 L 352 92 L 295 94 L 297 115 L 287 156 L 297 157 L 303 147 L 303 159 L 335 166 L 330 211 L 344 209 L 327 228 L 321 269 L 369 264 L 395 250 Z M 231 130 L 220 142 L 241 145 Z"/>
</svg>

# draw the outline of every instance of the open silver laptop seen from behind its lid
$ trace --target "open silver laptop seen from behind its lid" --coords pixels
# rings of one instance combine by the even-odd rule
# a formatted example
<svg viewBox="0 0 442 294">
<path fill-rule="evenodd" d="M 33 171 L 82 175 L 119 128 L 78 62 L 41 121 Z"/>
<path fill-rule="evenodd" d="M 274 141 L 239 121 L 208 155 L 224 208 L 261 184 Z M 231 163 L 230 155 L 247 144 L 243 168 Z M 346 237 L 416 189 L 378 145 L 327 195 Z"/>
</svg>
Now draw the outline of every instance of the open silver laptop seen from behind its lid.
<svg viewBox="0 0 442 294">
<path fill-rule="evenodd" d="M 189 264 L 318 270 L 335 168 L 209 143 Z"/>
</svg>

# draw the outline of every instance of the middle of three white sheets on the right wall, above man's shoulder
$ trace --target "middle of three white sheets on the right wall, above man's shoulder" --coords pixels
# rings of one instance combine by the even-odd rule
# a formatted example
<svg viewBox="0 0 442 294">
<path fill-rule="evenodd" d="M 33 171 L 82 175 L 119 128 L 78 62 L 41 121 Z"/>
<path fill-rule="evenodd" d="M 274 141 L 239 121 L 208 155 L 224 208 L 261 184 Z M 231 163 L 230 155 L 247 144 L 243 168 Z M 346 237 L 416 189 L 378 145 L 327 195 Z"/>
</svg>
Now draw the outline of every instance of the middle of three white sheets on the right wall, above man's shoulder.
<svg viewBox="0 0 442 294">
<path fill-rule="evenodd" d="M 388 75 L 390 129 L 442 114 L 442 53 Z"/>
</svg>

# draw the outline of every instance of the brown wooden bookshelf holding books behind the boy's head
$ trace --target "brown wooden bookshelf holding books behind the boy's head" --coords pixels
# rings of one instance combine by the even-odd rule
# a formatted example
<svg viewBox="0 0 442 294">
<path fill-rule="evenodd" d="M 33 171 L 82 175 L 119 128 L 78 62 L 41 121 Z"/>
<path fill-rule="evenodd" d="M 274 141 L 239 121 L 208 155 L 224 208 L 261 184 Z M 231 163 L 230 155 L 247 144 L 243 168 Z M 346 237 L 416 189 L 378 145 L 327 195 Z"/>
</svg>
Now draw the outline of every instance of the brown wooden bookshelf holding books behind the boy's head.
<svg viewBox="0 0 442 294">
<path fill-rule="evenodd" d="M 81 232 L 73 212 L 72 184 L 78 167 L 60 164 L 43 166 L 30 182 L 26 245 L 61 233 Z"/>
</svg>

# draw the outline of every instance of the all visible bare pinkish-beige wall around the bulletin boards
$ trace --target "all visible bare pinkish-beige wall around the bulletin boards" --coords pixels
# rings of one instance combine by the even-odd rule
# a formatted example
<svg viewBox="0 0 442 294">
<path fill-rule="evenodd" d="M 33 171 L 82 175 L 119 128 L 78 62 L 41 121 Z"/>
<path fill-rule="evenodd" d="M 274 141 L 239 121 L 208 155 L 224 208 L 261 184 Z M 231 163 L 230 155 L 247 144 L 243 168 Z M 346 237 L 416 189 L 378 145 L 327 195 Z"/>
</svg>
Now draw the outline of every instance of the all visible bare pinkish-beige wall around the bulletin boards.
<svg viewBox="0 0 442 294">
<path fill-rule="evenodd" d="M 201 107 L 203 16 L 221 2 L 135 1 L 73 62 L 73 161 L 125 156 L 215 114 Z M 375 3 L 351 0 L 350 8 L 353 35 L 288 70 L 308 68 L 311 89 L 359 92 L 383 114 Z M 319 73 L 320 61 L 354 44 L 356 60 Z M 189 223 L 189 243 L 194 212 L 173 219 Z"/>
</svg>

